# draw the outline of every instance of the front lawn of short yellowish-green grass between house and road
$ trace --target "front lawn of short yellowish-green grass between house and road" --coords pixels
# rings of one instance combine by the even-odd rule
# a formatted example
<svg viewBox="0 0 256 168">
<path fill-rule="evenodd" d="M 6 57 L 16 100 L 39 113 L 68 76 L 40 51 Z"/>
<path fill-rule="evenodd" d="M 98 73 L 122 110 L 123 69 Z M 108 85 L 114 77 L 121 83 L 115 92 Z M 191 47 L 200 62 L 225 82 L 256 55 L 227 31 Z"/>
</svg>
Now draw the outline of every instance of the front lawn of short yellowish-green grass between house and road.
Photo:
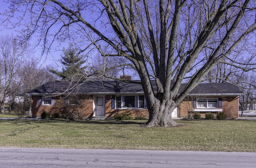
<svg viewBox="0 0 256 168">
<path fill-rule="evenodd" d="M 144 128 L 130 120 L 0 120 L 1 147 L 256 152 L 256 121 L 183 121 Z"/>
</svg>

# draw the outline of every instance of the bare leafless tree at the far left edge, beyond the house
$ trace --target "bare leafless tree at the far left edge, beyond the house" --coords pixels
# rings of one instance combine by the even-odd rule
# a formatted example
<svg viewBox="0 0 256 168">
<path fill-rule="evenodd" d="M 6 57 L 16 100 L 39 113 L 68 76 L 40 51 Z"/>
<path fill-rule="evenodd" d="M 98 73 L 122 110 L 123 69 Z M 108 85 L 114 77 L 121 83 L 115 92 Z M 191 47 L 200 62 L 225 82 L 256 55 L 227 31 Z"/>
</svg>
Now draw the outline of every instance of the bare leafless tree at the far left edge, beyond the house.
<svg viewBox="0 0 256 168">
<path fill-rule="evenodd" d="M 12 101 L 11 97 L 20 91 L 22 79 L 19 78 L 19 71 L 24 61 L 29 58 L 28 49 L 26 43 L 19 43 L 18 37 L 13 35 L 0 36 L 1 113 L 4 113 L 4 106 Z"/>
</svg>

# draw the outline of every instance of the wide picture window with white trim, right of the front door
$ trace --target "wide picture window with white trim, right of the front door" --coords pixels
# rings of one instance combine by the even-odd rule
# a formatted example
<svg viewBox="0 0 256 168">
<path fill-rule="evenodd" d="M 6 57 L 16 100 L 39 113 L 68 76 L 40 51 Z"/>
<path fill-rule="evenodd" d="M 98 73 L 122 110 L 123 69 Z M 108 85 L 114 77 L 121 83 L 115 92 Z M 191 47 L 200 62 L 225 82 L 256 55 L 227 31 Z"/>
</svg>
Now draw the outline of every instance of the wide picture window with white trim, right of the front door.
<svg viewBox="0 0 256 168">
<path fill-rule="evenodd" d="M 116 108 L 145 108 L 144 95 L 116 96 Z"/>
</svg>

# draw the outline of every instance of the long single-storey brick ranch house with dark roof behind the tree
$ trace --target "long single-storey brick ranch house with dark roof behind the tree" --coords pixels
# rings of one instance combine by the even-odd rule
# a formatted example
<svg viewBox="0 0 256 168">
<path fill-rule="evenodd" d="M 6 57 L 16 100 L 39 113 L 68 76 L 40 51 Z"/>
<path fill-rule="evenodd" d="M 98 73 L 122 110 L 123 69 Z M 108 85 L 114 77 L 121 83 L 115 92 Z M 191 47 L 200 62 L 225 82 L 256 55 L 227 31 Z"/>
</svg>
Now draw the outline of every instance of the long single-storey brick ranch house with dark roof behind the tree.
<svg viewBox="0 0 256 168">
<path fill-rule="evenodd" d="M 135 81 L 134 82 L 139 82 Z M 172 82 L 173 83 L 173 82 Z M 152 80 L 156 90 L 156 82 Z M 185 84 L 182 84 L 184 87 Z M 180 91 L 182 90 L 182 86 Z M 27 93 L 32 96 L 32 117 L 41 117 L 43 111 L 66 113 L 67 104 L 71 104 L 71 94 L 84 94 L 86 106 L 84 113 L 88 118 L 111 118 L 117 113 L 129 110 L 133 117 L 148 117 L 148 109 L 144 99 L 142 86 L 122 81 L 87 81 L 76 88 L 69 82 L 48 82 Z M 188 117 L 188 111 L 199 111 L 204 117 L 206 112 L 223 111 L 227 117 L 238 117 L 239 96 L 242 92 L 238 87 L 228 83 L 201 83 L 187 99 L 173 111 L 172 117 Z M 77 102 L 80 102 L 77 101 Z"/>
</svg>

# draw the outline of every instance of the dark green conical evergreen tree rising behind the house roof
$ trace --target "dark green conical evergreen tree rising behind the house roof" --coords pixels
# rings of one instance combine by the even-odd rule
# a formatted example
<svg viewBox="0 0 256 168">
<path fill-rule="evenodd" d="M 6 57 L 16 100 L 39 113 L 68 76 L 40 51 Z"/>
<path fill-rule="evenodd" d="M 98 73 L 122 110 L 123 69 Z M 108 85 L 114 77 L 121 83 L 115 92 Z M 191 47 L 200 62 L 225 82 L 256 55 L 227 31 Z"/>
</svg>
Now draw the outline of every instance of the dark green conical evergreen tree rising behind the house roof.
<svg viewBox="0 0 256 168">
<path fill-rule="evenodd" d="M 60 63 L 63 65 L 62 71 L 50 69 L 50 72 L 58 75 L 62 78 L 62 81 L 82 81 L 86 78 L 85 68 L 82 66 L 86 61 L 84 61 L 84 56 L 79 55 L 78 49 L 72 44 L 68 46 L 68 49 L 63 48 L 63 54 L 61 55 Z"/>
</svg>

